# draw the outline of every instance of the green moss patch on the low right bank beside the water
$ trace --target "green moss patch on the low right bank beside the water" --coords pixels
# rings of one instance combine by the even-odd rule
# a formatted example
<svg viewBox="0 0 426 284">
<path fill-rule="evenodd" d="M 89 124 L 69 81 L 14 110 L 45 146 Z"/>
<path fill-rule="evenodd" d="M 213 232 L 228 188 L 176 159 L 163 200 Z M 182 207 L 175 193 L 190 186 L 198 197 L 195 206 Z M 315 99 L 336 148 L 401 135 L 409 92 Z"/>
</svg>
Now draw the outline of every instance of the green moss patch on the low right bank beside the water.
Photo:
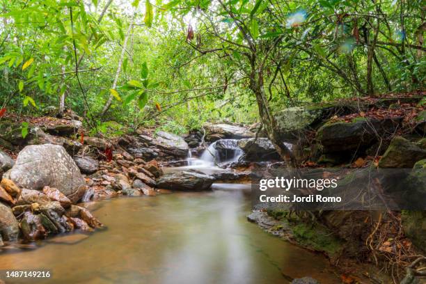
<svg viewBox="0 0 426 284">
<path fill-rule="evenodd" d="M 324 226 L 298 223 L 293 228 L 294 239 L 303 246 L 324 251 L 327 255 L 336 255 L 343 249 L 344 242 L 333 235 Z"/>
</svg>

